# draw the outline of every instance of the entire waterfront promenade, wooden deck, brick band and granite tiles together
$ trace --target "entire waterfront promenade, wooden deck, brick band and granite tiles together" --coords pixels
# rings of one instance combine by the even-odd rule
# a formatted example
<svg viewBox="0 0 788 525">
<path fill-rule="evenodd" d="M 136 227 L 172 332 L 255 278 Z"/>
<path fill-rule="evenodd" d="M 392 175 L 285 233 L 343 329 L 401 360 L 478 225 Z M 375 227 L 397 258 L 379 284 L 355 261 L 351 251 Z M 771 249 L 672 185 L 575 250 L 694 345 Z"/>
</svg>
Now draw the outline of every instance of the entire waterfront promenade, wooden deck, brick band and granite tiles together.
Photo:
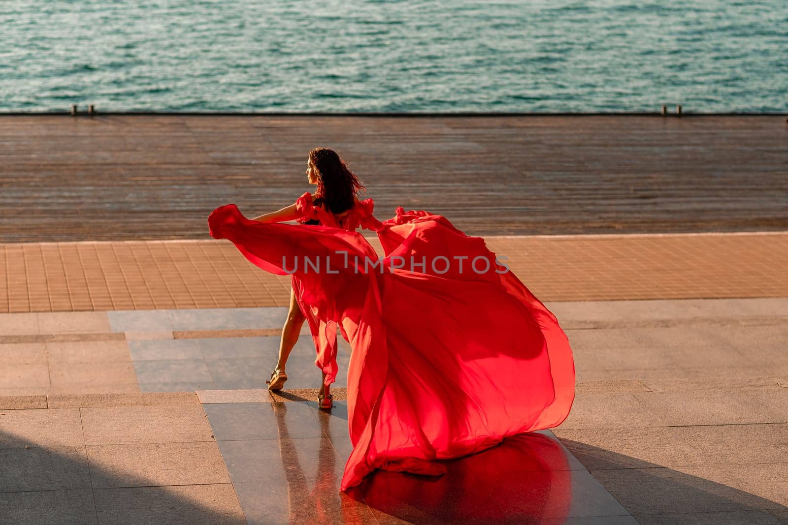
<svg viewBox="0 0 788 525">
<path fill-rule="evenodd" d="M 0 523 L 788 523 L 784 117 L 0 123 Z M 306 330 L 269 394 L 290 279 L 206 227 L 318 144 L 507 257 L 570 338 L 562 425 L 338 491 L 349 345 L 330 412 Z"/>
</svg>

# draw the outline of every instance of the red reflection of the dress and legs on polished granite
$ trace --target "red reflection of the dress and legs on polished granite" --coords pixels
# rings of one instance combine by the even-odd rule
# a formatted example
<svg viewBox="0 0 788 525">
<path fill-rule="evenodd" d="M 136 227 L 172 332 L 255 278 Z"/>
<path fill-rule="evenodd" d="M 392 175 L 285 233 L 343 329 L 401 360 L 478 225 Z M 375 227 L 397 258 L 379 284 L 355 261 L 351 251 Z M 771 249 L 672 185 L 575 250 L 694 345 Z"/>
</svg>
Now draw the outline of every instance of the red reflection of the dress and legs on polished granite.
<svg viewBox="0 0 788 525">
<path fill-rule="evenodd" d="M 341 461 L 332 439 L 348 438 L 329 438 L 329 416 L 318 418 L 325 437 L 314 458 L 318 463 L 314 483 L 307 480 L 285 423 L 287 405 L 272 403 L 288 483 L 290 523 L 365 523 L 369 511 L 357 501 L 414 523 L 539 523 L 568 515 L 567 456 L 555 439 L 543 434 L 520 434 L 481 453 L 444 461 L 447 472 L 441 476 L 375 471 L 361 486 L 343 494 Z"/>
</svg>

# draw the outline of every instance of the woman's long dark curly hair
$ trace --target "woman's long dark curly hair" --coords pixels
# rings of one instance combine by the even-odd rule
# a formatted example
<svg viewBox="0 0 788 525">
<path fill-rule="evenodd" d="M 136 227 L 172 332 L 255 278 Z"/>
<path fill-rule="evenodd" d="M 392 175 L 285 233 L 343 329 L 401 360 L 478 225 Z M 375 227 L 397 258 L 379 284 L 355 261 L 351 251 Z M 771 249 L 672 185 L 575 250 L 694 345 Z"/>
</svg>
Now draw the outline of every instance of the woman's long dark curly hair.
<svg viewBox="0 0 788 525">
<path fill-rule="evenodd" d="M 336 151 L 329 148 L 314 148 L 309 152 L 310 161 L 318 170 L 318 189 L 314 192 L 314 204 L 325 204 L 331 213 L 342 213 L 355 204 L 355 195 L 362 195 L 366 188 Z"/>
</svg>

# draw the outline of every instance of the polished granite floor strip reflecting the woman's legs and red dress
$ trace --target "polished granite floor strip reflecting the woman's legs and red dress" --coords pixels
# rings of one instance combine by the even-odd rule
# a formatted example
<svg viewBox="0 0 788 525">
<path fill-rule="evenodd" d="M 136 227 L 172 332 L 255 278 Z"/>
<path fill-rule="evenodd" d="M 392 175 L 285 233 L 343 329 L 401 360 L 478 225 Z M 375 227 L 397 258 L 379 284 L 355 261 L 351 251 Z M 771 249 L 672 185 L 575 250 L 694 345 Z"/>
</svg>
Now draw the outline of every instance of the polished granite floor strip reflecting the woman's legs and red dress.
<svg viewBox="0 0 788 525">
<path fill-rule="evenodd" d="M 346 401 L 203 409 L 248 523 L 637 523 L 549 431 L 447 461 L 440 477 L 376 471 L 341 493 Z"/>
</svg>

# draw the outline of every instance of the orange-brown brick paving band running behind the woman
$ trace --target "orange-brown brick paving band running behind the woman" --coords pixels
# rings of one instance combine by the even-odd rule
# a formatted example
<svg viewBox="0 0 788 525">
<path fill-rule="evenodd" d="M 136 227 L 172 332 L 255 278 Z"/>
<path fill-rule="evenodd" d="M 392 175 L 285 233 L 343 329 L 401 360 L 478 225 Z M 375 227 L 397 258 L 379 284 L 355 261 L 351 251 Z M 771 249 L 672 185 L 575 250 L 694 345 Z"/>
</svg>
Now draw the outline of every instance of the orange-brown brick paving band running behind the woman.
<svg viewBox="0 0 788 525">
<path fill-rule="evenodd" d="M 788 296 L 788 232 L 485 239 L 543 301 Z M 286 306 L 289 290 L 225 241 L 0 245 L 0 312 Z"/>
</svg>

